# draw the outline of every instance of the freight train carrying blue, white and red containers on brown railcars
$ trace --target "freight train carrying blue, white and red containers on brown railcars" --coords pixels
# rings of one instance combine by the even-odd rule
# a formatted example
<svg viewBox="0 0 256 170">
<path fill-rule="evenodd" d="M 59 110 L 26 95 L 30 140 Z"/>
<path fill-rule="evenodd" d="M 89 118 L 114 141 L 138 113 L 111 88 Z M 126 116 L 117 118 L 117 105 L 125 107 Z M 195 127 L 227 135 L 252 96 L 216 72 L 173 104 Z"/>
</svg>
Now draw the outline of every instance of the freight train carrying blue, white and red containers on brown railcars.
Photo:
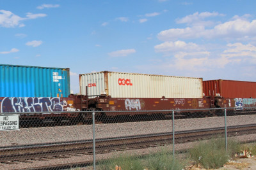
<svg viewBox="0 0 256 170">
<path fill-rule="evenodd" d="M 79 111 L 98 110 L 100 118 L 152 114 L 147 112 L 151 110 L 168 114 L 166 110 L 256 106 L 256 82 L 250 81 L 102 71 L 79 74 L 80 94 L 75 95 L 70 94 L 67 68 L 0 64 L 0 76 L 1 113 L 46 112 L 21 118 L 90 120 L 91 113 Z"/>
</svg>

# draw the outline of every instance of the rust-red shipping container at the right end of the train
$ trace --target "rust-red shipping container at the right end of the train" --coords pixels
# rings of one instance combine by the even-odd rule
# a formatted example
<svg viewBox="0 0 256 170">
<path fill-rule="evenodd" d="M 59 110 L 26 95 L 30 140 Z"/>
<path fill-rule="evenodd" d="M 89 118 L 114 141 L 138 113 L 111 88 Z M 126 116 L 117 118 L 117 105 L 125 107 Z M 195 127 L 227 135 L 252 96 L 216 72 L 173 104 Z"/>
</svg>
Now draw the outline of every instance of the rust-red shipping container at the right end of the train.
<svg viewBox="0 0 256 170">
<path fill-rule="evenodd" d="M 203 81 L 205 96 L 225 98 L 256 98 L 256 82 L 236 80 Z"/>
</svg>

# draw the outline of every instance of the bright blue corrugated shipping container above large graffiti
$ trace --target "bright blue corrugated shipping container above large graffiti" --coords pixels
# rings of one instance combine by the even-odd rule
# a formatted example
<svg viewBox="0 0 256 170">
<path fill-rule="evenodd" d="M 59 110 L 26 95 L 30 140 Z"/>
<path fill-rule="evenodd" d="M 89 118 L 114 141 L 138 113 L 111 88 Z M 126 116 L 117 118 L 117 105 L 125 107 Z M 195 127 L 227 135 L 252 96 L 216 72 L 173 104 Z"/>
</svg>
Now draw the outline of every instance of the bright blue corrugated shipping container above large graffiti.
<svg viewBox="0 0 256 170">
<path fill-rule="evenodd" d="M 68 68 L 0 64 L 0 97 L 68 97 Z"/>
</svg>

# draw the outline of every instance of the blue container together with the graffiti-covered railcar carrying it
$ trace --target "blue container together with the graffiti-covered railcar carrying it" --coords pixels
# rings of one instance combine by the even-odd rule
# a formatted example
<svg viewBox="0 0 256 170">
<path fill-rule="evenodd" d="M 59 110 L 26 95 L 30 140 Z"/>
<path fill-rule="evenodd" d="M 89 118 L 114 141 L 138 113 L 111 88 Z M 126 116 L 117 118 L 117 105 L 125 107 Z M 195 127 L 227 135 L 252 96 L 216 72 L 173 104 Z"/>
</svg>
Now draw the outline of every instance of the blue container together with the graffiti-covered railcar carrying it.
<svg viewBox="0 0 256 170">
<path fill-rule="evenodd" d="M 68 68 L 0 64 L 0 111 L 76 111 L 76 98 L 70 95 Z M 40 118 L 52 114 L 40 115 Z M 65 114 L 54 115 L 56 117 Z M 66 114 L 70 116 L 73 114 Z M 29 115 L 29 117 L 36 117 Z"/>
</svg>

